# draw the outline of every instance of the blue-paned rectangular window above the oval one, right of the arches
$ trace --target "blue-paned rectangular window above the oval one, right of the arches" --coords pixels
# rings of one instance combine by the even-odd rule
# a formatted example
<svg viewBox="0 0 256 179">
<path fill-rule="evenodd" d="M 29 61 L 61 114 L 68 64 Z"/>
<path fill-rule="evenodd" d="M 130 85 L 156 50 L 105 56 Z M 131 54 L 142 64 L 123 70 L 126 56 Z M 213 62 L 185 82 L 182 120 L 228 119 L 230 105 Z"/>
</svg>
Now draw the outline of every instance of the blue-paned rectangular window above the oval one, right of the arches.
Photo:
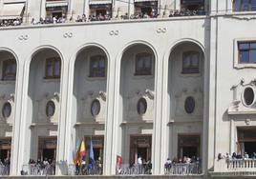
<svg viewBox="0 0 256 179">
<path fill-rule="evenodd" d="M 239 63 L 256 63 L 256 42 L 239 42 Z"/>
</svg>

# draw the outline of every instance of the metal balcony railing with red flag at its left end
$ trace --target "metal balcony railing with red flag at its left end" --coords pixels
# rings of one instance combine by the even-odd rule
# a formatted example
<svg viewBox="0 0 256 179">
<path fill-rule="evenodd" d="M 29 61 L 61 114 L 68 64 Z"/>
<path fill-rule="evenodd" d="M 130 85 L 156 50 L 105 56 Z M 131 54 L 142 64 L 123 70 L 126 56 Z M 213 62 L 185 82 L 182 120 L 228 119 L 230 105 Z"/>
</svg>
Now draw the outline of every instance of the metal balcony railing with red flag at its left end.
<svg viewBox="0 0 256 179">
<path fill-rule="evenodd" d="M 137 175 L 137 174 L 151 174 L 151 164 L 122 164 L 120 168 L 116 169 L 117 175 Z"/>
</svg>

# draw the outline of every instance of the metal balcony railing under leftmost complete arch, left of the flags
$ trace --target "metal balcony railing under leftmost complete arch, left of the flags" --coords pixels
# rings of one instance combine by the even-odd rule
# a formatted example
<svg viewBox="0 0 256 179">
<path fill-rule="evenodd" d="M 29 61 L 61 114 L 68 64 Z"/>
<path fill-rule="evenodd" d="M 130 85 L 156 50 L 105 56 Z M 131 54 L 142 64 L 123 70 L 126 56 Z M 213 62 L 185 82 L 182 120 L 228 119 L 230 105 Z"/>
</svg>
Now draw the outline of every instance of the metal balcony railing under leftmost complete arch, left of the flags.
<svg viewBox="0 0 256 179">
<path fill-rule="evenodd" d="M 36 166 L 36 165 L 23 165 L 21 175 L 54 175 L 55 166 Z"/>
</svg>

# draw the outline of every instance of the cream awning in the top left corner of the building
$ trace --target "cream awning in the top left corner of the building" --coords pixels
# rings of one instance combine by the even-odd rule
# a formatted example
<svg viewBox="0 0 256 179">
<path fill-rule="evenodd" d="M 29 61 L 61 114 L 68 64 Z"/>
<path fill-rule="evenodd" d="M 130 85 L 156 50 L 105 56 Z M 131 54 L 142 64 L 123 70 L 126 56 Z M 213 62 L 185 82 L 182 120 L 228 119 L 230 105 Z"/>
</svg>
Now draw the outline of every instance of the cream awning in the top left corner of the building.
<svg viewBox="0 0 256 179">
<path fill-rule="evenodd" d="M 3 10 L 0 11 L 0 19 L 15 19 L 21 16 L 24 3 L 4 4 Z"/>
</svg>

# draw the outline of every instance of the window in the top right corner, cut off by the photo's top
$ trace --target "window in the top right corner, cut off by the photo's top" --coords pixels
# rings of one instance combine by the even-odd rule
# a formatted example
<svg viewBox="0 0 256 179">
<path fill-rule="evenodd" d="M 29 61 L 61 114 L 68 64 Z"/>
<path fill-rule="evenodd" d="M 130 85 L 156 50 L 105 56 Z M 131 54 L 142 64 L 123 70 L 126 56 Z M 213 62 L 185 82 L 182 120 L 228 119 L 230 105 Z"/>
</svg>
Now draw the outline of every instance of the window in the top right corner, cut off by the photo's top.
<svg viewBox="0 0 256 179">
<path fill-rule="evenodd" d="M 256 10 L 256 1 L 255 0 L 234 0 L 233 10 L 234 11 Z"/>
</svg>

